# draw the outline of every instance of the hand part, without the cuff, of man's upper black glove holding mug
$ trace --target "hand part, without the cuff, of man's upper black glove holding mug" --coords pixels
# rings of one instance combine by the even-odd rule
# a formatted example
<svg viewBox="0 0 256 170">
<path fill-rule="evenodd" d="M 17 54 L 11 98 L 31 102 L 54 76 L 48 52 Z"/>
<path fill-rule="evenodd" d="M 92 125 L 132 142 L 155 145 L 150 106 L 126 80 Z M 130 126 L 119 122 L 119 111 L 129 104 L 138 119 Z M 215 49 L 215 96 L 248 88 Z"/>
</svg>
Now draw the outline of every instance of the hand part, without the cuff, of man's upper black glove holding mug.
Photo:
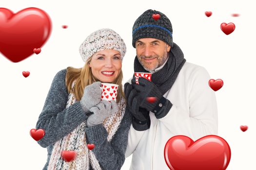
<svg viewBox="0 0 256 170">
<path fill-rule="evenodd" d="M 150 82 L 147 79 L 141 77 L 139 77 L 138 83 L 138 85 L 135 83 L 135 78 L 132 79 L 133 90 L 137 91 L 137 94 L 134 98 L 139 101 L 139 107 L 145 108 L 148 111 L 153 111 L 157 106 L 158 101 L 162 98 L 160 90 L 153 82 Z M 155 97 L 155 101 L 148 102 L 148 97 Z"/>
</svg>

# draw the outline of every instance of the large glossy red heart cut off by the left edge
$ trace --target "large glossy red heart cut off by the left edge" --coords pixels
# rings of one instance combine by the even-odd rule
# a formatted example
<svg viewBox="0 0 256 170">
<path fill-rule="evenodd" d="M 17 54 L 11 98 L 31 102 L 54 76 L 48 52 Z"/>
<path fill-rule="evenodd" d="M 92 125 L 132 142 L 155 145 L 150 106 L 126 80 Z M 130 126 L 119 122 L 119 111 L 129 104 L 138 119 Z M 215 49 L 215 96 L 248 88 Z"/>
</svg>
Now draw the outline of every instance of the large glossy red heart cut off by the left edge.
<svg viewBox="0 0 256 170">
<path fill-rule="evenodd" d="M 20 62 L 40 48 L 51 33 L 50 17 L 39 8 L 14 14 L 0 8 L 0 52 L 12 62 Z"/>
</svg>

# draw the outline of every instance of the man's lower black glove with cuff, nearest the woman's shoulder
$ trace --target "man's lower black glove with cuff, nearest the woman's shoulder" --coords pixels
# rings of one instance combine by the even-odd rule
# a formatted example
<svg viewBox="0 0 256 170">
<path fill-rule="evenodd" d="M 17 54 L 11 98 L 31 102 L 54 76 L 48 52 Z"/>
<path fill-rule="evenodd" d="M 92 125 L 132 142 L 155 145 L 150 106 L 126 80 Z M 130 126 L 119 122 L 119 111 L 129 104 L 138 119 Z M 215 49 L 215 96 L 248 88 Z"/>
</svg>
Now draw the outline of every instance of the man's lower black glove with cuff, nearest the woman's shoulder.
<svg viewBox="0 0 256 170">
<path fill-rule="evenodd" d="M 149 111 L 139 107 L 139 101 L 136 96 L 137 90 L 133 88 L 133 85 L 124 84 L 124 93 L 127 100 L 127 108 L 133 115 L 133 127 L 138 131 L 147 130 L 150 127 Z"/>
</svg>

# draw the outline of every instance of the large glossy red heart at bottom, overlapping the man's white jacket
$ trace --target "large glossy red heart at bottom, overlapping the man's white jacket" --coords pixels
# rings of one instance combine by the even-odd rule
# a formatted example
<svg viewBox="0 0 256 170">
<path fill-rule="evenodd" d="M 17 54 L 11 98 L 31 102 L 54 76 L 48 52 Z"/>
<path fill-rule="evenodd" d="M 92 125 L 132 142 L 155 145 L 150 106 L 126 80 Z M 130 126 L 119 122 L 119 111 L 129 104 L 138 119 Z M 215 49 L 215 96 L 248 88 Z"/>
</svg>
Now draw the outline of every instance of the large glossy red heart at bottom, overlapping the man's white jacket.
<svg viewBox="0 0 256 170">
<path fill-rule="evenodd" d="M 174 136 L 164 147 L 165 163 L 170 170 L 226 170 L 230 157 L 228 143 L 215 135 L 195 142 L 187 136 Z"/>
</svg>

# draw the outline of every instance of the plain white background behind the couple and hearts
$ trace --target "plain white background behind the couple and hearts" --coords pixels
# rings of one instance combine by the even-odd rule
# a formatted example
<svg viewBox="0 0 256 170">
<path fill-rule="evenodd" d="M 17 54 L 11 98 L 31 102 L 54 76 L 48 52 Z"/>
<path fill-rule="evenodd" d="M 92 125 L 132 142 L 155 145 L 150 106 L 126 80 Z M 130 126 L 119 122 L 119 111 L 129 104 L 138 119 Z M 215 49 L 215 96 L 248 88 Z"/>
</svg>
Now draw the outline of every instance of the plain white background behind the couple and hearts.
<svg viewBox="0 0 256 170">
<path fill-rule="evenodd" d="M 68 66 L 81 68 L 79 45 L 92 32 L 111 28 L 124 39 L 124 82 L 133 74 L 136 55 L 132 27 L 147 9 L 170 18 L 174 42 L 187 62 L 205 67 L 212 79 L 222 79 L 216 92 L 218 136 L 231 147 L 227 170 L 255 170 L 256 52 L 254 0 L 0 0 L 14 13 L 37 7 L 51 17 L 52 33 L 38 55 L 12 63 L 0 54 L 0 162 L 1 170 L 41 170 L 47 151 L 29 135 L 35 128 L 55 74 Z M 211 17 L 205 11 L 212 11 Z M 231 14 L 238 13 L 239 17 Z M 222 22 L 233 22 L 229 35 Z M 62 29 L 62 25 L 68 25 Z M 24 78 L 22 71 L 30 71 Z M 242 132 L 240 125 L 249 129 Z M 128 170 L 131 157 L 122 170 Z"/>
</svg>

